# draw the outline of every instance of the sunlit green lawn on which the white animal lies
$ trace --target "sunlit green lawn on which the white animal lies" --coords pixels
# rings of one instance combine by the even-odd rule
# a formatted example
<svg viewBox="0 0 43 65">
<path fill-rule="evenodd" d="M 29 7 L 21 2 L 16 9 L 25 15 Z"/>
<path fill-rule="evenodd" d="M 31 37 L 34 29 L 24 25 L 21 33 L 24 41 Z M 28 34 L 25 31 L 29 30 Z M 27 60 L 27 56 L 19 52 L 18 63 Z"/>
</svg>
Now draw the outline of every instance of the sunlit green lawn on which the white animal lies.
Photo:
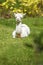
<svg viewBox="0 0 43 65">
<path fill-rule="evenodd" d="M 31 29 L 27 38 L 12 38 L 15 19 L 0 19 L 0 65 L 43 65 L 43 52 L 36 52 L 34 36 L 43 31 L 43 18 L 24 18 Z"/>
</svg>

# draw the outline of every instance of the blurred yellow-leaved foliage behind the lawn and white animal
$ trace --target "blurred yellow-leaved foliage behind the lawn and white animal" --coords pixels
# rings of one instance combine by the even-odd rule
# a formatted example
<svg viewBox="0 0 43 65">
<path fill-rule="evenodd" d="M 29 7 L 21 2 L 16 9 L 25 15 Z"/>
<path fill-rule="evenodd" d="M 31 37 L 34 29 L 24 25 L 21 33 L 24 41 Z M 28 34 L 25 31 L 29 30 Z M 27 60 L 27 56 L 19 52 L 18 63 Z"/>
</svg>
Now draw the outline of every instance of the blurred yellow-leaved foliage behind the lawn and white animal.
<svg viewBox="0 0 43 65">
<path fill-rule="evenodd" d="M 0 17 L 10 18 L 14 12 L 27 16 L 43 16 L 43 0 L 0 0 Z"/>
</svg>

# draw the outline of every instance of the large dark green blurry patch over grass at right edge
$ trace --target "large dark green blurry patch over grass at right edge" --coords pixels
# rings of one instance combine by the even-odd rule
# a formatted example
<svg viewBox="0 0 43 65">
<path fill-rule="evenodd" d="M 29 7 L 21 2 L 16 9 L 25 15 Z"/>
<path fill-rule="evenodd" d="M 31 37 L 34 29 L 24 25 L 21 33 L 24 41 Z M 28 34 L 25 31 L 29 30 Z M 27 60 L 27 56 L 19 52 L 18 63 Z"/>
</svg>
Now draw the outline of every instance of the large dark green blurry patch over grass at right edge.
<svg viewBox="0 0 43 65">
<path fill-rule="evenodd" d="M 34 43 L 36 45 L 36 50 L 38 52 L 42 52 L 43 51 L 43 31 L 41 31 L 39 34 L 36 34 L 34 36 Z"/>
</svg>

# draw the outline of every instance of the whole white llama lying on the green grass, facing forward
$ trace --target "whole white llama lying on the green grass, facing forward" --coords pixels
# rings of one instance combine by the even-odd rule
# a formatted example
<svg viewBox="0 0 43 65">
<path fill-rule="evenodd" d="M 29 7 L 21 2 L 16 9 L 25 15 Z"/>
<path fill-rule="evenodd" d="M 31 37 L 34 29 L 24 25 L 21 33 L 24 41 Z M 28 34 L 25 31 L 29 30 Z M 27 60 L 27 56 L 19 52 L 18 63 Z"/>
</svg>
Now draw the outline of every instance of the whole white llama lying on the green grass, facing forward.
<svg viewBox="0 0 43 65">
<path fill-rule="evenodd" d="M 30 34 L 30 28 L 26 24 L 22 24 L 22 18 L 25 16 L 23 13 L 14 13 L 16 18 L 16 29 L 13 31 L 13 38 L 27 37 Z"/>
</svg>

